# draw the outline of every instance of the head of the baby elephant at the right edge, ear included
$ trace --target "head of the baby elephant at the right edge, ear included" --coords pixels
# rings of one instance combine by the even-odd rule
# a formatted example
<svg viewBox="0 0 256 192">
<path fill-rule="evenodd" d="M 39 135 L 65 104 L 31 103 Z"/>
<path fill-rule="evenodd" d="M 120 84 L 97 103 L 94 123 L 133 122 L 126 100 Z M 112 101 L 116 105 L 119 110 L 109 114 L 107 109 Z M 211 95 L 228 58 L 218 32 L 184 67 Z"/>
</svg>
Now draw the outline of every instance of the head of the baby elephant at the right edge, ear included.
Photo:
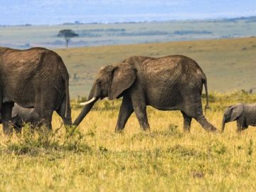
<svg viewBox="0 0 256 192">
<path fill-rule="evenodd" d="M 223 115 L 222 132 L 224 132 L 225 123 L 235 121 L 236 119 L 238 119 L 238 117 L 241 116 L 242 112 L 243 112 L 242 103 L 238 103 L 236 105 L 229 106 L 225 110 L 224 115 Z"/>
</svg>

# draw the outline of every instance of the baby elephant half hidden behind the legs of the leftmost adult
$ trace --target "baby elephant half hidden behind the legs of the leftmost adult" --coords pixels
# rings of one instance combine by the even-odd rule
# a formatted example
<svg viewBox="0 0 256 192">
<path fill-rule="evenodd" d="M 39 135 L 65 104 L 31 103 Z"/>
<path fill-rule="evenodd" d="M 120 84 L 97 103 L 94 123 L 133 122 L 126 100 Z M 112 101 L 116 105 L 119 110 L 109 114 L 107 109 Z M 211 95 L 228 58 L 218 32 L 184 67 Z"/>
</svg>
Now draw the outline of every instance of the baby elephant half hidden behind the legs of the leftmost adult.
<svg viewBox="0 0 256 192">
<path fill-rule="evenodd" d="M 1 119 L 0 123 L 2 123 Z M 14 126 L 17 132 L 21 132 L 23 123 L 29 123 L 33 127 L 36 126 L 35 109 L 23 108 L 14 103 L 14 107 L 11 111 L 11 125 Z"/>
</svg>

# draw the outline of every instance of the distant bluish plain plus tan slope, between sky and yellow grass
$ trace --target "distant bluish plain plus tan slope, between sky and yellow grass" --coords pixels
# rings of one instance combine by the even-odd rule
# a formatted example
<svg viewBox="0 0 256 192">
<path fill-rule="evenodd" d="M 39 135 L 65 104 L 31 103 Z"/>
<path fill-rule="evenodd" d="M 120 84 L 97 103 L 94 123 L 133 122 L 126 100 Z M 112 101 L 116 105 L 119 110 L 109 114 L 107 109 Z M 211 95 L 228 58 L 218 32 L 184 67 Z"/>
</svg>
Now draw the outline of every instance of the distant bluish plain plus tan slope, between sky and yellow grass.
<svg viewBox="0 0 256 192">
<path fill-rule="evenodd" d="M 57 36 L 64 28 L 79 34 L 71 40 L 68 50 L 60 49 L 65 43 Z M 228 92 L 255 87 L 255 31 L 255 17 L 160 23 L 0 26 L 0 46 L 55 49 L 68 67 L 73 98 L 88 94 L 95 73 L 102 65 L 117 63 L 132 55 L 187 55 L 206 72 L 210 90 Z M 214 40 L 195 41 L 197 39 Z"/>
</svg>

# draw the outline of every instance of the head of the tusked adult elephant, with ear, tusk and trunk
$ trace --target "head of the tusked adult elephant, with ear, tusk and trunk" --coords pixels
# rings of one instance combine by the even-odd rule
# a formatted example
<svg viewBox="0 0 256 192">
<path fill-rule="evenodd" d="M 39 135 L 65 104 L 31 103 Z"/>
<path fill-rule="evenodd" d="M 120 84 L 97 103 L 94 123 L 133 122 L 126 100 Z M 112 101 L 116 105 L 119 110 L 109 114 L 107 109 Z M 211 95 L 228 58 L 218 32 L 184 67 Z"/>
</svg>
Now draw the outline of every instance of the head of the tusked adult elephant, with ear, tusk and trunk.
<svg viewBox="0 0 256 192">
<path fill-rule="evenodd" d="M 78 126 L 98 99 L 108 97 L 109 100 L 114 100 L 115 98 L 122 97 L 122 92 L 134 83 L 136 73 L 137 70 L 129 63 L 106 65 L 100 68 L 87 98 L 88 101 L 81 103 L 85 107 L 73 124 Z"/>
</svg>

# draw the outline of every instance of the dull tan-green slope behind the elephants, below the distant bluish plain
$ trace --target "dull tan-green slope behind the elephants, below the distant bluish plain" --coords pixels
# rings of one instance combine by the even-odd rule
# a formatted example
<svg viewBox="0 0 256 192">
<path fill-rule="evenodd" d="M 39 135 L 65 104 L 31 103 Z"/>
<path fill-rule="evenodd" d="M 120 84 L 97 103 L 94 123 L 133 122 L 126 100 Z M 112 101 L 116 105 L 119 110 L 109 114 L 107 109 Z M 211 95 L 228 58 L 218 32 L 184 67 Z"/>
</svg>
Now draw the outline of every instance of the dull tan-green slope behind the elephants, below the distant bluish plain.
<svg viewBox="0 0 256 192">
<path fill-rule="evenodd" d="M 90 91 L 95 74 L 103 65 L 132 55 L 161 57 L 186 55 L 198 62 L 211 91 L 250 90 L 256 82 L 256 38 L 96 46 L 56 50 L 70 73 L 70 94 L 77 98 Z"/>
</svg>

